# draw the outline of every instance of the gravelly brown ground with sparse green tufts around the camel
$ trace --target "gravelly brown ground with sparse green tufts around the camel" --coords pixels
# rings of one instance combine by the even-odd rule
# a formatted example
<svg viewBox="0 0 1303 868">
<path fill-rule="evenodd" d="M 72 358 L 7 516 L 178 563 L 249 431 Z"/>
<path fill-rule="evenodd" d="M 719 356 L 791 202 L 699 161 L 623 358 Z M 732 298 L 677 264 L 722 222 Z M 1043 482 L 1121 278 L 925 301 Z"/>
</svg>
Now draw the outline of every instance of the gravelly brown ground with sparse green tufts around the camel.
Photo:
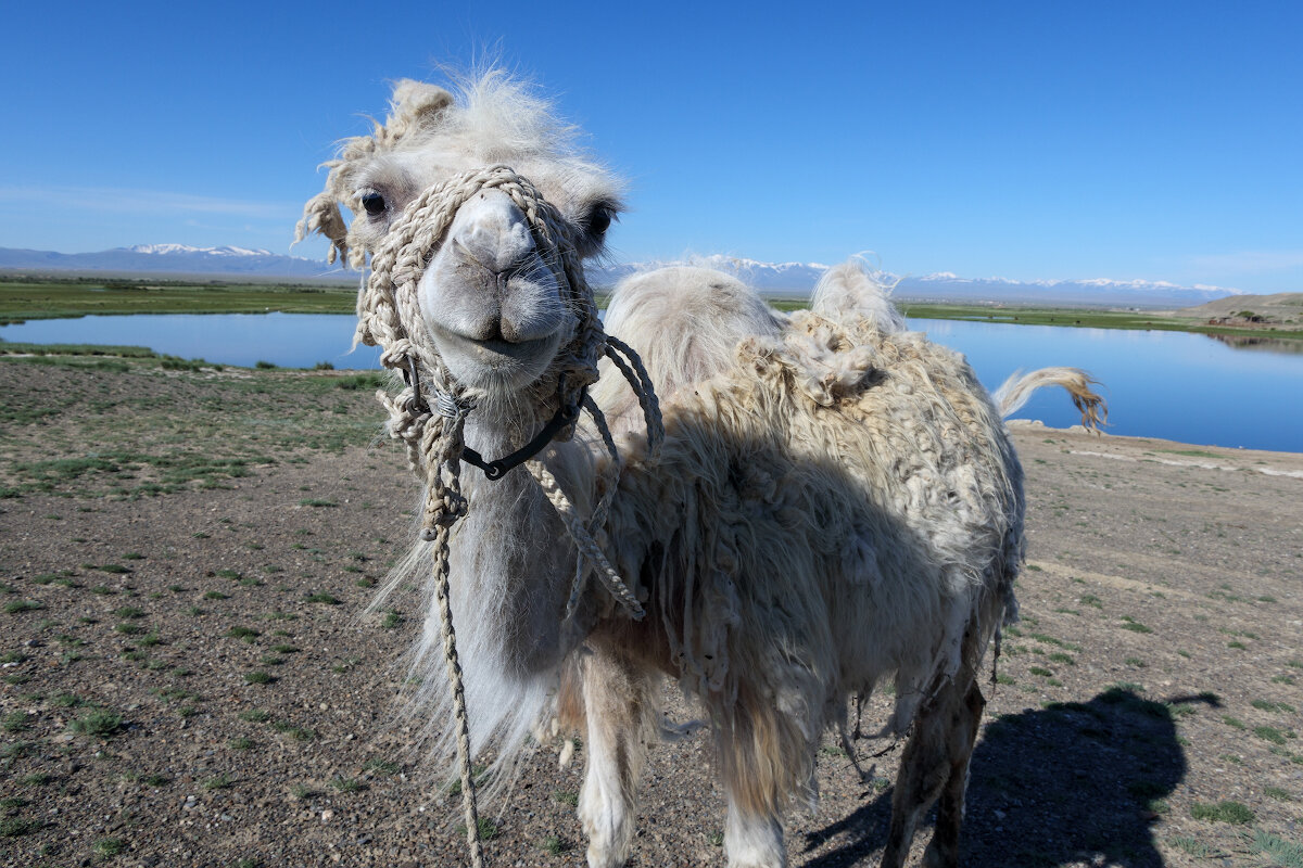
<svg viewBox="0 0 1303 868">
<path fill-rule="evenodd" d="M 370 385 L 0 360 L 0 864 L 465 864 L 399 716 L 421 613 L 364 616 L 416 497 Z M 1014 433 L 1024 617 L 964 864 L 1303 864 L 1303 455 Z M 877 864 L 899 748 L 855 747 L 873 780 L 825 740 L 792 865 Z M 491 865 L 584 864 L 581 760 L 538 751 Z M 723 864 L 702 735 L 655 748 L 638 829 L 631 865 Z"/>
</svg>

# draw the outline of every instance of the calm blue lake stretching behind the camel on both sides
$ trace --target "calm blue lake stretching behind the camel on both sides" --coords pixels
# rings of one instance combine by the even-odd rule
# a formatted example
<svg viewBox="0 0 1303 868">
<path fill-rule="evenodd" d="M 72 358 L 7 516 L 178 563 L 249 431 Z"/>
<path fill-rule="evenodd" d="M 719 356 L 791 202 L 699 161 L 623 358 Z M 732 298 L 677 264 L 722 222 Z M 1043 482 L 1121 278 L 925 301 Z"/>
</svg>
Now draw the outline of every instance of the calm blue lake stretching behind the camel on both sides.
<svg viewBox="0 0 1303 868">
<path fill-rule="evenodd" d="M 120 344 L 253 367 L 378 367 L 379 350 L 349 353 L 353 316 L 323 314 L 158 314 L 33 320 L 0 340 Z M 968 357 L 994 389 L 1015 370 L 1070 364 L 1104 383 L 1109 432 L 1191 444 L 1303 452 L 1303 354 L 1238 349 L 1203 334 L 1049 325 L 911 320 Z M 1042 390 L 1018 414 L 1052 427 L 1079 419 L 1062 390 Z"/>
</svg>

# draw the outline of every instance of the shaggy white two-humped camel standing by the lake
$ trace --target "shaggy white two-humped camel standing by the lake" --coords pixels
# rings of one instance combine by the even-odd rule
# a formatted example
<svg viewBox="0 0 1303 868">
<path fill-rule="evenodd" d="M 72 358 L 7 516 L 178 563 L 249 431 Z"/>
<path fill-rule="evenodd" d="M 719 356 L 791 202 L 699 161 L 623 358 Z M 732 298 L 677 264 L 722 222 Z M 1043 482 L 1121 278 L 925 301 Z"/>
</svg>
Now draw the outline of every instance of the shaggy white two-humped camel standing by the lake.
<svg viewBox="0 0 1303 868">
<path fill-rule="evenodd" d="M 619 182 L 519 82 L 464 90 L 399 83 L 300 236 L 354 264 L 371 254 L 361 337 L 407 376 L 382 400 L 427 483 L 426 539 L 390 588 L 446 565 L 470 751 L 495 748 L 506 770 L 542 721 L 580 731 L 588 860 L 620 865 L 662 682 L 678 679 L 710 727 L 728 864 L 784 865 L 783 817 L 813 795 L 821 737 L 844 739 L 850 698 L 894 685 L 881 731 L 909 738 L 882 864 L 903 864 L 938 798 L 924 861 L 956 864 L 979 669 L 1016 618 L 1023 558 L 1023 472 L 997 403 L 855 263 L 791 316 L 726 275 L 670 268 L 625 281 L 605 325 L 645 360 L 662 439 L 580 264 L 603 250 Z M 1031 376 L 1097 418 L 1081 372 Z M 580 406 L 611 433 L 575 423 Z M 490 461 L 526 445 L 541 450 L 525 466 Z M 414 666 L 448 763 L 460 700 L 434 575 Z"/>
</svg>

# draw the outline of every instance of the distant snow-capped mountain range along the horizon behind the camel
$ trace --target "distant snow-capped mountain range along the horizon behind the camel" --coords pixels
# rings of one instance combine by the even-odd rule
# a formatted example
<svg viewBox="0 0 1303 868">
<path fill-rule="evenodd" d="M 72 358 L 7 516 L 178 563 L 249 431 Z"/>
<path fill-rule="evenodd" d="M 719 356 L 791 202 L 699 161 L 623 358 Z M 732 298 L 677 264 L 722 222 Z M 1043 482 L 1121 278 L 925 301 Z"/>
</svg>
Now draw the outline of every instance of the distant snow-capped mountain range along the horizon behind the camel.
<svg viewBox="0 0 1303 868">
<path fill-rule="evenodd" d="M 589 267 L 594 286 L 612 286 L 622 277 L 657 265 L 679 263 L 624 263 Z M 744 282 L 771 294 L 808 294 L 827 271 L 822 263 L 766 263 L 739 256 L 696 256 L 691 264 L 718 268 L 736 275 Z M 227 277 L 293 278 L 313 281 L 356 282 L 357 273 L 343 271 L 326 262 L 274 254 L 246 247 L 190 247 L 188 245 L 137 245 L 115 247 L 93 254 L 60 254 L 44 250 L 0 247 L 0 271 L 47 272 L 112 272 L 175 273 Z M 1009 302 L 1022 305 L 1100 305 L 1114 307 L 1186 307 L 1216 298 L 1238 295 L 1238 289 L 1218 286 L 1181 286 L 1166 281 L 1145 280 L 1035 280 L 1018 281 L 1003 277 L 959 277 L 950 272 L 923 276 L 883 273 L 882 280 L 895 282 L 896 298 L 938 302 Z"/>
</svg>

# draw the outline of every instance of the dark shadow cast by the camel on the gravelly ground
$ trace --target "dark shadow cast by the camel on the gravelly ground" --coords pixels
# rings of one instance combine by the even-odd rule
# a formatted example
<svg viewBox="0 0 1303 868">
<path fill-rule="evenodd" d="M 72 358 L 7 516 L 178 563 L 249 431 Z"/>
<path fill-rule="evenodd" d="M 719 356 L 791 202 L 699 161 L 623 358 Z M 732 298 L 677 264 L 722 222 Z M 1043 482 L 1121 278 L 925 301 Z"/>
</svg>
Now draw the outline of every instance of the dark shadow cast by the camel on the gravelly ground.
<svg viewBox="0 0 1303 868">
<path fill-rule="evenodd" d="M 1110 687 L 1089 703 L 1054 703 L 990 721 L 973 751 L 960 864 L 1049 868 L 1067 863 L 1162 865 L 1149 824 L 1186 774 L 1175 720 L 1210 694 L 1144 699 Z M 891 789 L 805 835 L 807 868 L 876 864 L 886 845 Z M 929 819 L 929 824 L 930 824 Z M 929 830 L 920 824 L 913 850 Z"/>
</svg>

